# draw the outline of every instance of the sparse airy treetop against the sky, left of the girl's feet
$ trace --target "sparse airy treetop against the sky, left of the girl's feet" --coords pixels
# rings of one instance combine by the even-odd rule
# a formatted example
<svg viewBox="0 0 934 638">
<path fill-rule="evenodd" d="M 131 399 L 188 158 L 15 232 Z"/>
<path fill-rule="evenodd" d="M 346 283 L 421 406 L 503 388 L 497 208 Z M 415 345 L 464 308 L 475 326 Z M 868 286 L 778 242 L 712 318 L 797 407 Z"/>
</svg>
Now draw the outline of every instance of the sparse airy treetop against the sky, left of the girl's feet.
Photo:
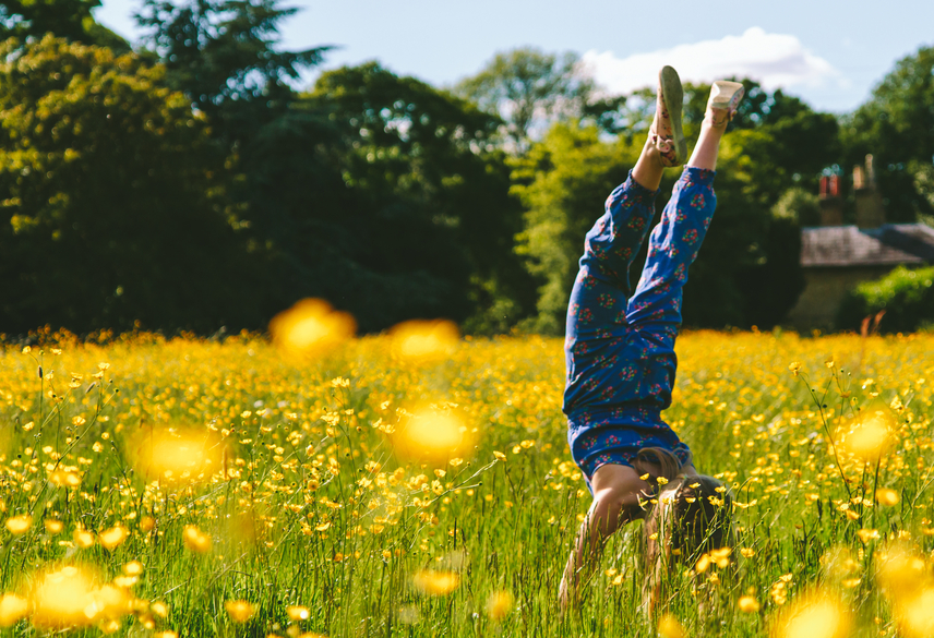
<svg viewBox="0 0 934 638">
<path fill-rule="evenodd" d="M 487 112 L 498 113 L 506 123 L 511 145 L 524 151 L 532 128 L 543 130 L 555 119 L 585 115 L 594 89 L 594 81 L 582 70 L 576 53 L 555 56 L 524 47 L 496 53 L 477 75 L 462 80 L 454 92 Z M 614 103 L 607 108 L 618 106 Z"/>
</svg>

